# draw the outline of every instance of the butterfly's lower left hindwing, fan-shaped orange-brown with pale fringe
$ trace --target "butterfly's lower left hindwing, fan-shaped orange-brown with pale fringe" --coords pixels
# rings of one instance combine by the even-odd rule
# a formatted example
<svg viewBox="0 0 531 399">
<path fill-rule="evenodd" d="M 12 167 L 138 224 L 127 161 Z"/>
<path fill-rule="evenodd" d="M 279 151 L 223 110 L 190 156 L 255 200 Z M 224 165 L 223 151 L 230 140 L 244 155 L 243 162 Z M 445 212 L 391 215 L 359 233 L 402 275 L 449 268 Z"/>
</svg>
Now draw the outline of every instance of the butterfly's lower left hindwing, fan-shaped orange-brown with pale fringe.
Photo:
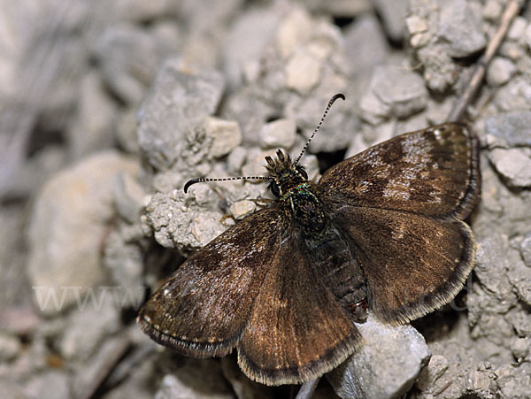
<svg viewBox="0 0 531 399">
<path fill-rule="evenodd" d="M 243 372 L 267 385 L 317 378 L 361 344 L 349 311 L 325 286 L 302 237 L 287 233 L 237 344 Z"/>
</svg>

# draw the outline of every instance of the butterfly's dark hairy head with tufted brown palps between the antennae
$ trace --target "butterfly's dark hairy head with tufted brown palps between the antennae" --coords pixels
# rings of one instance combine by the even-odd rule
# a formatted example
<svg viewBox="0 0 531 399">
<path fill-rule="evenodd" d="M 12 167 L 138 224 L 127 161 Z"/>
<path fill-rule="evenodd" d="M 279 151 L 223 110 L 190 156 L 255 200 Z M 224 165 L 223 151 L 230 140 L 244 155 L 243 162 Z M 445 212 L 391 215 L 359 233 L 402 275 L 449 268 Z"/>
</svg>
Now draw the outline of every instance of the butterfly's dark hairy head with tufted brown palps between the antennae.
<svg viewBox="0 0 531 399">
<path fill-rule="evenodd" d="M 266 157 L 266 169 L 271 178 L 269 189 L 273 196 L 284 196 L 298 185 L 308 181 L 304 166 L 296 165 L 282 150 L 277 150 L 276 157 Z"/>
</svg>

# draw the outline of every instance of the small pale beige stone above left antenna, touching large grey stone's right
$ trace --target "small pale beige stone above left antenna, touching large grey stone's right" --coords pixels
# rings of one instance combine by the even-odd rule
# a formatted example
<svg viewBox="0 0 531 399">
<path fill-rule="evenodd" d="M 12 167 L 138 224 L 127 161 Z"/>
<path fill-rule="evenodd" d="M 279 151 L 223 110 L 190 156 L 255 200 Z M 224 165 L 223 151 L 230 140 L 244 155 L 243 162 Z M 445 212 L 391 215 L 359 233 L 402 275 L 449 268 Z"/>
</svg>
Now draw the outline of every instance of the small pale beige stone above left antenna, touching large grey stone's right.
<svg viewBox="0 0 531 399">
<path fill-rule="evenodd" d="M 234 120 L 208 117 L 204 121 L 204 131 L 212 139 L 211 157 L 224 157 L 242 142 L 240 127 Z"/>
</svg>

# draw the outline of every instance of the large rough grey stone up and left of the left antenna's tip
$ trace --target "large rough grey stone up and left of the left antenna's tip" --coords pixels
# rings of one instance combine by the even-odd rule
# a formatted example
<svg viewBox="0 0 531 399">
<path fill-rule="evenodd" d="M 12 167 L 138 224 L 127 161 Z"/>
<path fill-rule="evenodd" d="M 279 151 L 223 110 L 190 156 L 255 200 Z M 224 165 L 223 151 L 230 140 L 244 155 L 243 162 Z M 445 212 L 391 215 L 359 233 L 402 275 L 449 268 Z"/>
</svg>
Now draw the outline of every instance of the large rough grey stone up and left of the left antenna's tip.
<svg viewBox="0 0 531 399">
<path fill-rule="evenodd" d="M 219 73 L 181 70 L 175 58 L 165 62 L 139 113 L 138 141 L 151 165 L 161 170 L 173 165 L 178 144 L 190 130 L 203 127 L 223 86 Z"/>
</svg>

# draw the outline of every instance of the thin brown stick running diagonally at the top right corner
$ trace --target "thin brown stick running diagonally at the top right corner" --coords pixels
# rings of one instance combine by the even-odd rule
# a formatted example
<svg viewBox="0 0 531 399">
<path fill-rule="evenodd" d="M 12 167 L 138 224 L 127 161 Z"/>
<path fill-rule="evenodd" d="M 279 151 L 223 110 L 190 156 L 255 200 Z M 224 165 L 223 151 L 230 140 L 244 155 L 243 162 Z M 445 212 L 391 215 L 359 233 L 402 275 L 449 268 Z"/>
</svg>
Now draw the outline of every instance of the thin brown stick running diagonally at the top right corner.
<svg viewBox="0 0 531 399">
<path fill-rule="evenodd" d="M 502 16 L 502 19 L 500 19 L 500 25 L 497 28 L 496 33 L 490 38 L 487 50 L 485 50 L 485 53 L 481 56 L 475 66 L 465 92 L 458 98 L 456 104 L 454 104 L 454 107 L 448 115 L 447 121 L 454 122 L 463 118 L 466 112 L 466 107 L 472 102 L 473 96 L 475 96 L 483 82 L 490 61 L 492 61 L 496 51 L 504 41 L 504 37 L 507 35 L 509 27 L 511 27 L 512 19 L 518 15 L 525 3 L 525 0 L 512 0 L 505 8 L 504 15 Z"/>
</svg>

